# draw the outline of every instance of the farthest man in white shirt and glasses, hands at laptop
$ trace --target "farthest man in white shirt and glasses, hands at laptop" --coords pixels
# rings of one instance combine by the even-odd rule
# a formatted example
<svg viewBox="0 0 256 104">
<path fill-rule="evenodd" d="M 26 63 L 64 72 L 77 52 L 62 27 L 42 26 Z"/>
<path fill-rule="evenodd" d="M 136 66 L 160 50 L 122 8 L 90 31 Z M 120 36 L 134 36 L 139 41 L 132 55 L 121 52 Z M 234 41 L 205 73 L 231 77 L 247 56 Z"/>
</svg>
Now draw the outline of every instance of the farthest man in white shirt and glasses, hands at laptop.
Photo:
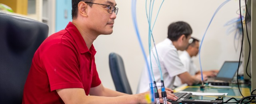
<svg viewBox="0 0 256 104">
<path fill-rule="evenodd" d="M 201 72 L 194 64 L 192 57 L 196 56 L 199 52 L 199 40 L 196 38 L 190 38 L 190 44 L 180 55 L 180 60 L 184 65 L 185 69 L 190 73 L 190 75 L 195 76 L 198 80 L 201 80 Z M 203 79 L 206 81 L 208 77 L 216 76 L 218 70 L 211 70 L 211 71 L 203 71 Z M 179 77 L 175 78 L 174 86 L 178 87 L 181 86 L 183 83 L 181 82 Z"/>
</svg>

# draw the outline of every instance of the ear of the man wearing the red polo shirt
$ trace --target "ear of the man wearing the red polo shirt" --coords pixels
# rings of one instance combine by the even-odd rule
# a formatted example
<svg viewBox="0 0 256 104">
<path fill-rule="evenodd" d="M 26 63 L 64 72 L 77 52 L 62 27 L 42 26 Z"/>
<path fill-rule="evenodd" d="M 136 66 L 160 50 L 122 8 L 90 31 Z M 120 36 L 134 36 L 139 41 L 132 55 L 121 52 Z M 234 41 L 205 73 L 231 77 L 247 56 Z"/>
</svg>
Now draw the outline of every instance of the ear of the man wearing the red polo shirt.
<svg viewBox="0 0 256 104">
<path fill-rule="evenodd" d="M 88 6 L 85 2 L 78 3 L 78 15 L 82 15 L 84 17 L 88 17 Z"/>
</svg>

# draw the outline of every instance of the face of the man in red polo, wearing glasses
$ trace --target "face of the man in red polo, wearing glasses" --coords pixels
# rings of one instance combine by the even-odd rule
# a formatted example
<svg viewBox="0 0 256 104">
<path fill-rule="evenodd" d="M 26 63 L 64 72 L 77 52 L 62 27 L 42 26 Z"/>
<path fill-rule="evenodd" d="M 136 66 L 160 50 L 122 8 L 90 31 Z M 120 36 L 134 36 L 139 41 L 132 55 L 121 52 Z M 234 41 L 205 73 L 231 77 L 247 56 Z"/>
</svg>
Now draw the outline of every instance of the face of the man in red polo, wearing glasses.
<svg viewBox="0 0 256 104">
<path fill-rule="evenodd" d="M 94 0 L 93 3 L 98 4 L 92 4 L 92 8 L 88 10 L 88 17 L 90 18 L 88 28 L 98 34 L 112 34 L 116 14 L 114 12 L 110 14 L 108 6 L 99 4 L 116 6 L 115 0 Z"/>
</svg>

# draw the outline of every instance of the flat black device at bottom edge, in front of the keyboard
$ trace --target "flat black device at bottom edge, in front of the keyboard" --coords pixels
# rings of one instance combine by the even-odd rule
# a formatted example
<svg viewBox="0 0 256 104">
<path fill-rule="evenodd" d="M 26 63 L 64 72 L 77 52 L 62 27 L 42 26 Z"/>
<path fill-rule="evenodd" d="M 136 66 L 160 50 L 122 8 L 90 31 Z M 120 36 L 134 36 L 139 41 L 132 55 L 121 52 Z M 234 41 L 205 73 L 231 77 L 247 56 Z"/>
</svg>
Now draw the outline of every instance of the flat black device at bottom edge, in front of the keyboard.
<svg viewBox="0 0 256 104">
<path fill-rule="evenodd" d="M 184 99 L 182 104 L 223 104 L 223 100 Z"/>
</svg>

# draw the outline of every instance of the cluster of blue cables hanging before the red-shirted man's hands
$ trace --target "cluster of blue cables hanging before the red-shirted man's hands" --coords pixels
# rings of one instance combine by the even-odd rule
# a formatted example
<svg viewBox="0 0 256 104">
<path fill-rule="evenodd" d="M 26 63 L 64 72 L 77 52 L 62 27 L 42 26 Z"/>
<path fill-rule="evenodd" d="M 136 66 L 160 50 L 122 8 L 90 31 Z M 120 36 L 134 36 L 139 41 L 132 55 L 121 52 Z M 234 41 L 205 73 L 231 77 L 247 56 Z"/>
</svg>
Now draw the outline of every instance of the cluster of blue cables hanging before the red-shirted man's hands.
<svg viewBox="0 0 256 104">
<path fill-rule="evenodd" d="M 150 66 L 148 64 L 148 60 L 146 58 L 146 54 L 145 54 L 145 51 L 144 51 L 144 48 L 143 48 L 143 45 L 142 45 L 142 42 L 141 42 L 141 39 L 140 39 L 140 34 L 139 34 L 139 31 L 138 31 L 138 24 L 137 24 L 137 19 L 136 19 L 136 0 L 132 0 L 132 20 L 133 20 L 133 23 L 134 23 L 134 28 L 136 30 L 137 37 L 138 37 L 138 41 L 140 43 L 140 48 L 142 49 L 144 60 L 145 60 L 146 65 L 147 65 L 150 85 L 152 85 L 152 86 L 150 86 L 150 89 L 151 89 L 150 99 L 151 99 L 151 101 L 148 101 L 148 103 L 152 103 L 152 102 L 155 101 L 154 99 L 156 99 L 156 103 L 160 104 L 159 93 L 158 93 L 158 90 L 157 90 L 156 81 L 155 81 L 153 70 L 152 70 L 152 61 L 151 61 L 151 52 L 152 52 L 152 54 L 154 56 L 154 59 L 157 62 L 159 71 L 160 71 L 162 98 L 164 100 L 164 104 L 167 104 L 167 99 L 166 99 L 167 95 L 166 95 L 166 91 L 165 91 L 165 87 L 164 87 L 164 80 L 163 80 L 163 76 L 162 76 L 162 70 L 161 70 L 161 67 L 160 67 L 158 53 L 157 53 L 157 50 L 155 50 L 156 53 L 154 53 L 154 51 L 152 50 L 152 46 L 151 46 L 151 41 L 153 41 L 154 47 L 156 47 L 155 42 L 154 42 L 154 37 L 153 37 L 153 34 L 152 34 L 152 30 L 154 28 L 154 24 L 156 23 L 156 19 L 157 19 L 158 13 L 160 11 L 160 8 L 161 8 L 164 0 L 162 0 L 162 3 L 161 3 L 161 5 L 160 5 L 160 7 L 158 9 L 158 13 L 156 15 L 154 24 L 151 25 L 154 1 L 155 0 L 153 0 L 153 1 L 150 0 L 150 4 L 149 4 L 150 6 L 149 6 L 149 12 L 148 12 L 148 10 L 147 10 L 147 0 L 146 0 L 146 14 L 147 14 L 146 16 L 147 16 L 147 20 L 148 20 L 148 45 L 149 45 L 148 47 L 149 47 Z M 151 39 L 151 37 L 152 37 L 152 39 Z M 154 81 L 152 80 L 152 78 L 153 78 Z"/>
</svg>

